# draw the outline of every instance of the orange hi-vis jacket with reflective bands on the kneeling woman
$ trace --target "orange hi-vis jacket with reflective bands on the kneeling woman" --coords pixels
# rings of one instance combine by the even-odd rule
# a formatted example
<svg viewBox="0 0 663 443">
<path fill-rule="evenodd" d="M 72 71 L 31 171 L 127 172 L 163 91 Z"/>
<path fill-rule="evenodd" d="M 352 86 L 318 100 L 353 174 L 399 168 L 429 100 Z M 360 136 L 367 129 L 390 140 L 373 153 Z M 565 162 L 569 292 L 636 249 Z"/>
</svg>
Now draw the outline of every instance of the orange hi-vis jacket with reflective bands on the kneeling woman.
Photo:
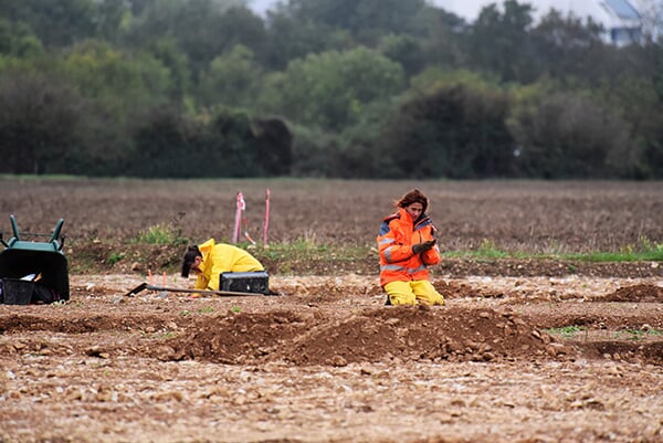
<svg viewBox="0 0 663 443">
<path fill-rule="evenodd" d="M 385 218 L 378 235 L 380 252 L 380 286 L 391 282 L 429 279 L 428 266 L 442 262 L 440 249 L 434 245 L 421 254 L 412 254 L 412 245 L 433 240 L 435 226 L 421 214 L 417 223 L 403 209 Z"/>
</svg>

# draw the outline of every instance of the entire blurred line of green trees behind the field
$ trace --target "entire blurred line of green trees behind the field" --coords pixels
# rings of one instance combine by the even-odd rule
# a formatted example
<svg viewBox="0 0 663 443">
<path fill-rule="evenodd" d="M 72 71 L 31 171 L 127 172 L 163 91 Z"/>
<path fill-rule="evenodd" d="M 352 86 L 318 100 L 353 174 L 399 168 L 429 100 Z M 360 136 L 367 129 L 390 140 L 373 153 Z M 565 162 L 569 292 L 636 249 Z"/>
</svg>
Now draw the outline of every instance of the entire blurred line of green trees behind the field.
<svg viewBox="0 0 663 443">
<path fill-rule="evenodd" d="M 663 178 L 655 20 L 620 48 L 515 0 L 472 23 L 425 0 L 249 7 L 0 0 L 0 172 Z"/>
</svg>

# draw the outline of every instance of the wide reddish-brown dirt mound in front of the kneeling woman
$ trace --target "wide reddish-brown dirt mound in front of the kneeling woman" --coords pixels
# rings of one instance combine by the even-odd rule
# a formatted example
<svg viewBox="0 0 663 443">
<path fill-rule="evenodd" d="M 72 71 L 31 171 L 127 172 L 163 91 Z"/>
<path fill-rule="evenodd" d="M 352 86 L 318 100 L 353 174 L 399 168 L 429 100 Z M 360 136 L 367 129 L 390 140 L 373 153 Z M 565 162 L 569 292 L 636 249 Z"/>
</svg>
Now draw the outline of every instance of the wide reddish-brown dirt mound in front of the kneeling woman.
<svg viewBox="0 0 663 443">
<path fill-rule="evenodd" d="M 492 309 L 365 308 L 343 316 L 309 309 L 206 318 L 156 351 L 161 360 L 286 361 L 346 366 L 378 361 L 492 361 L 568 351 L 513 314 Z"/>
</svg>

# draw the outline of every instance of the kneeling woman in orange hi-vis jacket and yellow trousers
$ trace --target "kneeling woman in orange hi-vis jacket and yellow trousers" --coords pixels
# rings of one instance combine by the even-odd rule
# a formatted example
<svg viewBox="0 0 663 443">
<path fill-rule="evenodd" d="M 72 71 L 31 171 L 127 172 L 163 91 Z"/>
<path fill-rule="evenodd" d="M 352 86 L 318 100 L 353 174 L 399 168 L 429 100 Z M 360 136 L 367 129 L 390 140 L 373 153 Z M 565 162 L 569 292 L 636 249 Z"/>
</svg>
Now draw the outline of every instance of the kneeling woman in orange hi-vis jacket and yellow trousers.
<svg viewBox="0 0 663 443">
<path fill-rule="evenodd" d="M 442 262 L 436 229 L 425 214 L 428 204 L 428 197 L 413 189 L 394 202 L 397 212 L 382 220 L 377 241 L 387 305 L 444 305 L 428 268 Z"/>
</svg>

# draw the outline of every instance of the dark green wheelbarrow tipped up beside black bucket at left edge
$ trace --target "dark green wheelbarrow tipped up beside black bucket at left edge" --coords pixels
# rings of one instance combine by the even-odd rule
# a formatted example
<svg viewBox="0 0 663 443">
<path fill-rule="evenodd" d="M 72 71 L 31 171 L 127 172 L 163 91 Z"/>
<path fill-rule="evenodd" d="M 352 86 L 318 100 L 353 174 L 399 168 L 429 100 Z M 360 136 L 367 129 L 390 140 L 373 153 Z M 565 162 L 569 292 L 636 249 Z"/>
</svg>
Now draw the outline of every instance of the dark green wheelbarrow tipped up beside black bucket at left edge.
<svg viewBox="0 0 663 443">
<path fill-rule="evenodd" d="M 57 221 L 52 233 L 38 234 L 19 232 L 15 217 L 9 218 L 13 236 L 6 241 L 0 231 L 0 244 L 4 246 L 0 252 L 0 303 L 27 305 L 69 300 L 69 270 L 61 234 L 64 219 Z M 36 238 L 40 236 L 48 240 L 39 241 Z"/>
</svg>

